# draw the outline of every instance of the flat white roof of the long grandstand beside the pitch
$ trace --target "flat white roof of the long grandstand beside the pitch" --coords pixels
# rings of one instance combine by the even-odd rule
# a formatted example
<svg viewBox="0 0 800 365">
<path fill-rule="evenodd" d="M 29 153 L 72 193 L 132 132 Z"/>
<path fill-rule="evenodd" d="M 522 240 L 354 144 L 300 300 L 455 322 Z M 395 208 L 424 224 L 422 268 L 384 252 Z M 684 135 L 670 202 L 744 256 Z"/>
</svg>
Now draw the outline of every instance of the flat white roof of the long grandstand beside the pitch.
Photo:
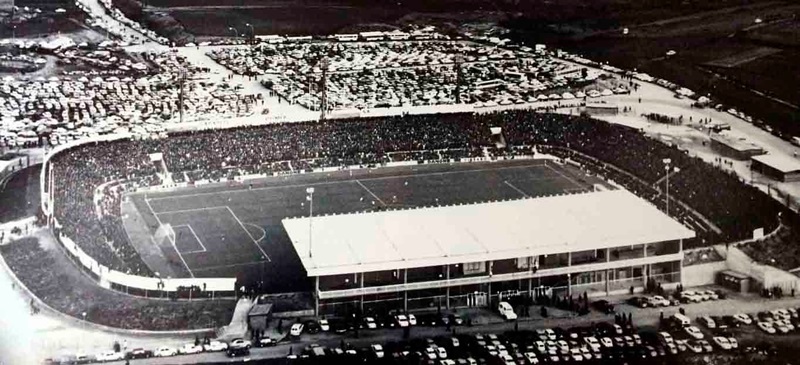
<svg viewBox="0 0 800 365">
<path fill-rule="evenodd" d="M 502 260 L 694 237 L 625 190 L 286 218 L 309 276 Z"/>
</svg>

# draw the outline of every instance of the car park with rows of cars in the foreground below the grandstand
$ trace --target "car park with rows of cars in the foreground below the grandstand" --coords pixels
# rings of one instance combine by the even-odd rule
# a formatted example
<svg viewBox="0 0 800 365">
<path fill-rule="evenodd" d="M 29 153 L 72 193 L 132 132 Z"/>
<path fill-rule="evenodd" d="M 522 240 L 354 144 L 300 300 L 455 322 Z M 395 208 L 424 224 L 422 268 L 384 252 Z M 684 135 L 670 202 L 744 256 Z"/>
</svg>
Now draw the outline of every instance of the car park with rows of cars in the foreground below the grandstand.
<svg viewBox="0 0 800 365">
<path fill-rule="evenodd" d="M 289 334 L 291 321 L 282 321 L 283 333 L 273 332 L 270 334 L 274 336 L 272 340 L 266 341 L 268 346 L 253 346 L 244 358 L 288 357 L 299 363 L 345 361 L 433 365 L 522 365 L 556 361 L 675 364 L 696 356 L 713 354 L 724 358 L 750 353 L 765 342 L 794 343 L 798 340 L 797 330 L 789 329 L 791 327 L 784 321 L 794 327 L 800 325 L 796 314 L 800 300 L 764 299 L 753 294 L 720 292 L 724 293 L 724 299 L 673 302 L 669 306 L 648 305 L 645 308 L 629 304 L 631 296 L 628 295 L 610 297 L 607 299 L 615 310 L 610 314 L 598 310 L 594 303 L 592 310 L 585 315 L 549 308 L 548 316 L 542 317 L 540 307 L 534 307 L 529 316 L 520 316 L 516 321 L 504 321 L 487 309 L 431 311 L 416 313 L 416 325 L 409 323 L 408 330 L 400 328 L 396 318 L 384 315 L 372 317 L 371 321 L 365 316 L 359 321 L 358 330 L 350 325 L 352 321 L 330 318 L 327 319 L 327 331 L 312 324 L 316 328 L 311 332 L 315 333 L 309 333 L 311 322 L 301 321 L 304 323 L 303 333 L 292 336 Z M 681 309 L 688 324 L 671 319 Z M 517 313 L 522 314 L 519 308 Z M 614 314 L 623 313 L 631 316 L 630 323 L 615 323 Z M 661 313 L 665 318 L 663 322 Z M 737 314 L 739 319 L 734 317 Z M 750 318 L 749 323 L 741 314 Z M 713 327 L 708 325 L 709 319 L 715 322 Z M 446 321 L 451 325 L 445 324 Z M 374 323 L 374 328 L 370 328 L 369 322 Z M 318 321 L 314 323 L 319 324 Z M 781 326 L 789 330 L 781 333 L 776 329 L 775 334 L 768 334 L 760 329 L 763 326 Z M 715 337 L 724 337 L 725 340 L 715 340 Z M 736 343 L 735 348 L 731 342 Z M 254 341 L 253 344 L 257 343 Z M 208 362 L 225 358 L 224 352 L 204 352 L 182 356 L 181 360 Z M 148 364 L 174 362 L 174 358 L 147 359 Z"/>
</svg>

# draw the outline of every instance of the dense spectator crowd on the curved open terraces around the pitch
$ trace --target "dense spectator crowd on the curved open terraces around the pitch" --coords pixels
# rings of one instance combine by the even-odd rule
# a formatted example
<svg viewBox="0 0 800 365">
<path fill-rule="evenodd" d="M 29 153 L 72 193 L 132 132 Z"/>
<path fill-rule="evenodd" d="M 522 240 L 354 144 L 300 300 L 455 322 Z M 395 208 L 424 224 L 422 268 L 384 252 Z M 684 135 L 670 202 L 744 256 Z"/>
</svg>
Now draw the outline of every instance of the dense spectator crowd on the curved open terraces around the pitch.
<svg viewBox="0 0 800 365">
<path fill-rule="evenodd" d="M 496 147 L 500 127 L 507 146 Z M 664 206 L 665 158 L 681 171 L 670 177 L 670 214 L 698 230 L 695 245 L 729 242 L 771 231 L 782 206 L 735 175 L 650 139 L 641 131 L 586 117 L 504 111 L 488 114 L 404 115 L 325 122 L 278 123 L 171 135 L 169 138 L 85 145 L 55 163 L 56 217 L 63 231 L 101 264 L 147 274 L 119 226 L 118 211 L 99 220 L 94 188 L 123 181 L 149 186 L 165 176 L 148 158 L 162 153 L 171 176 L 224 180 L 254 173 L 291 173 L 314 167 L 375 166 L 400 160 L 437 160 L 532 151 L 571 158 L 598 175 Z M 158 176 L 157 176 L 158 174 Z M 683 202 L 688 206 L 683 206 Z M 114 203 L 116 204 L 116 203 Z M 708 222 L 694 214 L 699 212 Z M 715 233 L 709 225 L 721 230 Z"/>
</svg>

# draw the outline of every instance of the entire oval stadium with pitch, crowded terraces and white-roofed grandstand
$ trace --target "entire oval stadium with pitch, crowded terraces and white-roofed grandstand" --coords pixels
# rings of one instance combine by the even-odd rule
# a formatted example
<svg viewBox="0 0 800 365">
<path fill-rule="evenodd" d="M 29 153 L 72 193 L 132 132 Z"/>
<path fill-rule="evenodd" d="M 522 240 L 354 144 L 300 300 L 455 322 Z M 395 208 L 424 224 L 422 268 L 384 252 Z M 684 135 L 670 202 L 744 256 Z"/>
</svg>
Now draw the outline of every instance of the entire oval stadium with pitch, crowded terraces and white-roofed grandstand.
<svg viewBox="0 0 800 365">
<path fill-rule="evenodd" d="M 532 111 L 94 141 L 51 153 L 42 182 L 101 285 L 306 292 L 318 314 L 672 288 L 684 248 L 771 232 L 785 209 L 638 130 Z"/>
</svg>

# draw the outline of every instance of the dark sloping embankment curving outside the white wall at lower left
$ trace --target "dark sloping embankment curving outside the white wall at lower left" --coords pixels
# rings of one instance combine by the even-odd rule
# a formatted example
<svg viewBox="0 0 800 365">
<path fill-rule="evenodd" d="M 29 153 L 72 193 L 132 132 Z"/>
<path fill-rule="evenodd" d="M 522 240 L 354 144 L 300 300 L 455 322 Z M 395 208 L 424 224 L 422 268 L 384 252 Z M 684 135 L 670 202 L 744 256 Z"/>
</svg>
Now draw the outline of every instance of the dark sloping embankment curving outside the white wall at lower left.
<svg viewBox="0 0 800 365">
<path fill-rule="evenodd" d="M 115 293 L 92 283 L 80 272 L 53 270 L 60 264 L 54 253 L 43 249 L 36 238 L 2 245 L 0 252 L 17 278 L 53 309 L 115 328 L 151 331 L 216 328 L 230 321 L 236 304 L 233 300 L 171 301 Z M 31 305 L 32 311 L 41 310 L 35 302 Z"/>
</svg>

